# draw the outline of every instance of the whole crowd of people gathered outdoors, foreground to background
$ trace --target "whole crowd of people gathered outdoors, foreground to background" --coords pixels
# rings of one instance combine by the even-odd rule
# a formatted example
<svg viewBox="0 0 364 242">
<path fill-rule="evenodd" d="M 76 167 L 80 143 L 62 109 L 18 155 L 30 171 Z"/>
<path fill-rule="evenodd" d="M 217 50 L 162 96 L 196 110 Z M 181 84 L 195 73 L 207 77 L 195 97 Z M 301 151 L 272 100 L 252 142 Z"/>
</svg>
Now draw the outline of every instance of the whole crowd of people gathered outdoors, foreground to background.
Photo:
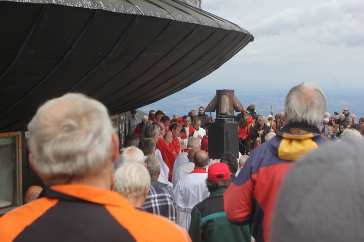
<svg viewBox="0 0 364 242">
<path fill-rule="evenodd" d="M 211 160 L 213 120 L 202 106 L 171 118 L 150 110 L 142 121 L 132 110 L 132 133 L 119 149 L 100 102 L 75 93 L 52 99 L 28 125 L 30 165 L 45 187 L 39 199 L 0 217 L 0 238 L 361 241 L 362 233 L 347 231 L 364 224 L 353 216 L 363 202 L 355 178 L 364 173 L 364 149 L 351 152 L 363 146 L 364 122 L 356 123 L 347 107 L 338 118 L 325 111 L 325 94 L 313 82 L 292 88 L 284 113 L 274 117 L 257 114 L 255 103 L 244 106 L 237 115 L 239 157 L 227 151 Z M 338 139 L 339 146 L 332 142 Z M 324 155 L 335 149 L 350 152 Z M 341 193 L 346 200 L 335 201 Z M 342 230 L 345 237 L 337 235 Z"/>
</svg>

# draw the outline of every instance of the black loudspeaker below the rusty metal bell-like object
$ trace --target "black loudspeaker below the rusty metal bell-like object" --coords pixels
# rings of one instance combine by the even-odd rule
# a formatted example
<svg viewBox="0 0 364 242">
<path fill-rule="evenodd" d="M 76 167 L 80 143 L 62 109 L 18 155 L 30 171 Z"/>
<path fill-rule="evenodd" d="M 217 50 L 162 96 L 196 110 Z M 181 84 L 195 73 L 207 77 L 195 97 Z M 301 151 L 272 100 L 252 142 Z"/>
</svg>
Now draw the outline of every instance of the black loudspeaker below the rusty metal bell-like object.
<svg viewBox="0 0 364 242">
<path fill-rule="evenodd" d="M 237 122 L 209 123 L 209 158 L 220 159 L 227 151 L 239 156 Z"/>
</svg>

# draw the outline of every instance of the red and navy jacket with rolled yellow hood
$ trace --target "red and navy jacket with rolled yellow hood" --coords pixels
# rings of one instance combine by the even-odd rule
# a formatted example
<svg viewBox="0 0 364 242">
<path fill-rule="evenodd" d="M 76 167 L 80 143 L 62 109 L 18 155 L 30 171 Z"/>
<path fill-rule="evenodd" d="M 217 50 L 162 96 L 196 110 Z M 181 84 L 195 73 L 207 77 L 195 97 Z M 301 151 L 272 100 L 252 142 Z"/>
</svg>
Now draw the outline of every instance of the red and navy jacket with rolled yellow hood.
<svg viewBox="0 0 364 242">
<path fill-rule="evenodd" d="M 329 142 L 320 134 L 305 130 L 287 128 L 284 131 L 288 132 L 279 132 L 269 142 L 254 149 L 238 177 L 224 193 L 224 209 L 229 221 L 234 224 L 253 223 L 253 237 L 258 242 L 269 239 L 275 201 L 293 161 Z"/>
</svg>

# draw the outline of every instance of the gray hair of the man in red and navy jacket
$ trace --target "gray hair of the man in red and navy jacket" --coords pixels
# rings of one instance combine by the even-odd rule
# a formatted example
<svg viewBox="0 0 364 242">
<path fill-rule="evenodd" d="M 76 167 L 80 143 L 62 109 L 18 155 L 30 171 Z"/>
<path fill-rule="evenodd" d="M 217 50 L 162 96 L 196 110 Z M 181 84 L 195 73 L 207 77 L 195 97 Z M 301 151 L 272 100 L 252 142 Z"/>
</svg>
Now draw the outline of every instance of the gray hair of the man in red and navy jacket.
<svg viewBox="0 0 364 242">
<path fill-rule="evenodd" d="M 326 96 L 314 82 L 302 82 L 289 91 L 285 104 L 287 123 L 304 123 L 320 127 L 326 110 Z"/>
</svg>

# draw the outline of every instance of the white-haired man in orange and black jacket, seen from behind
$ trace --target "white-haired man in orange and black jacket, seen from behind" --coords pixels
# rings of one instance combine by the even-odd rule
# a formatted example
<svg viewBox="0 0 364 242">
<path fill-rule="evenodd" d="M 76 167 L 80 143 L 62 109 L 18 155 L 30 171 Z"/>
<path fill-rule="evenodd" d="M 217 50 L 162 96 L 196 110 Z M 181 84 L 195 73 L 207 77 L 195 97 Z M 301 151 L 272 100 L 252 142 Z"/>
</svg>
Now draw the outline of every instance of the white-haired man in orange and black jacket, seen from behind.
<svg viewBox="0 0 364 242">
<path fill-rule="evenodd" d="M 52 99 L 28 130 L 29 163 L 46 187 L 1 216 L 1 241 L 188 241 L 181 228 L 111 191 L 119 140 L 99 101 L 75 93 Z"/>
</svg>

